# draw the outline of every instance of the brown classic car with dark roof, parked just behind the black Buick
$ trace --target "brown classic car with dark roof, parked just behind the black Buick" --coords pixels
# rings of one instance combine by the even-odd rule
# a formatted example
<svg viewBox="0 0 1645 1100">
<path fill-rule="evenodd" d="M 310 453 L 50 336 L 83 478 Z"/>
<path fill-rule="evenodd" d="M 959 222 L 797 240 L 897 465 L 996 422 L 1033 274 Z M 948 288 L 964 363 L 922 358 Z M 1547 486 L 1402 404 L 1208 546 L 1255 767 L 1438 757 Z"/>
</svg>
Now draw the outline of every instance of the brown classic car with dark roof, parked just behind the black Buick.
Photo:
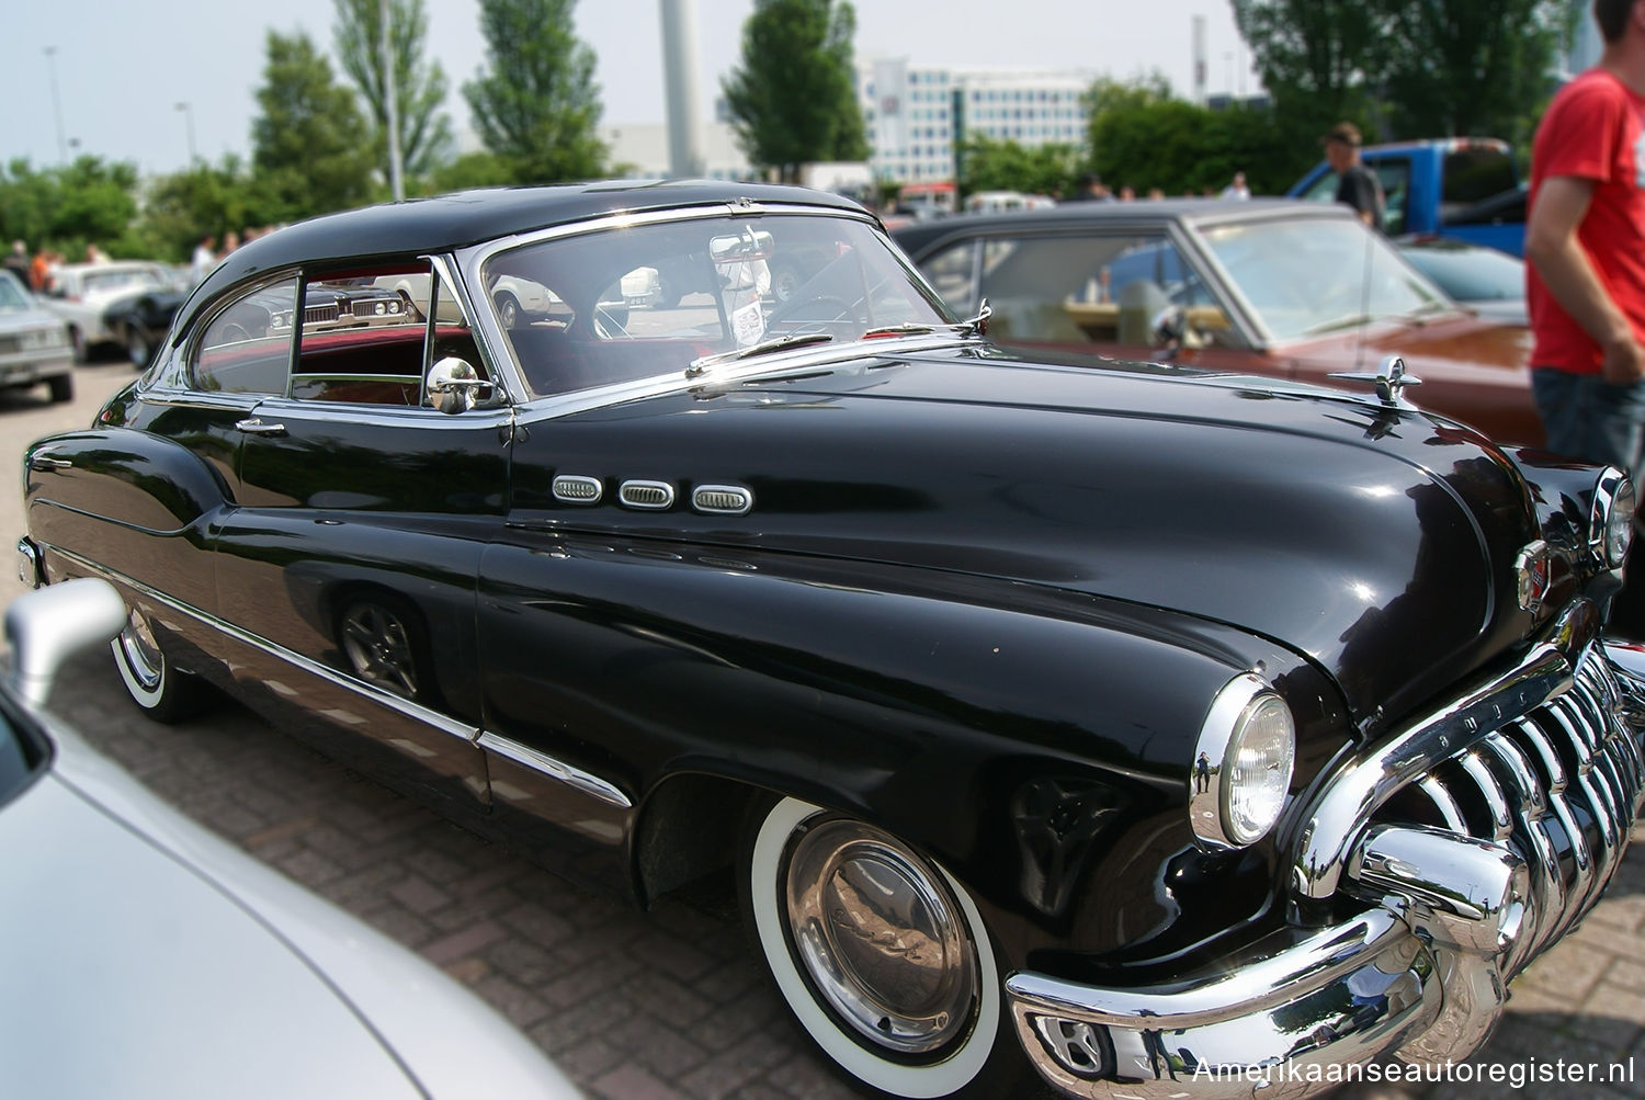
<svg viewBox="0 0 1645 1100">
<path fill-rule="evenodd" d="M 1347 207 L 1283 199 L 1071 202 L 893 230 L 948 303 L 987 299 L 1002 344 L 1173 358 L 1357 386 L 1390 355 L 1411 403 L 1541 444 L 1530 332 L 1453 303 Z"/>
</svg>

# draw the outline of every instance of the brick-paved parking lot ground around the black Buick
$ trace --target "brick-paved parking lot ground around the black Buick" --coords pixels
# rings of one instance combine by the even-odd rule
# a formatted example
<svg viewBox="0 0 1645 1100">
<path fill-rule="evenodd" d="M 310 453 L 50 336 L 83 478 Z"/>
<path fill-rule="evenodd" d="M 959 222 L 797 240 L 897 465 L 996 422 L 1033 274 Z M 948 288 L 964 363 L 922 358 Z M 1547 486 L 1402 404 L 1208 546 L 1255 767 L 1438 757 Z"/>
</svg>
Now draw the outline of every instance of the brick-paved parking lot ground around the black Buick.
<svg viewBox="0 0 1645 1100">
<path fill-rule="evenodd" d="M 123 363 L 95 363 L 79 370 L 72 404 L 0 398 L 0 464 L 16 470 L 30 439 L 89 424 L 100 400 L 130 378 Z M 16 536 L 23 518 L 10 477 L 0 529 Z M 15 579 L 5 584 L 7 599 L 21 590 Z M 184 727 L 150 723 L 125 700 L 105 653 L 79 659 L 53 705 L 181 811 L 470 985 L 591 1097 L 859 1095 L 788 1023 L 722 894 L 671 898 L 638 914 L 234 705 Z M 1512 1070 L 1531 1059 L 1620 1062 L 1632 1082 L 1364 1085 L 1342 1095 L 1645 1095 L 1645 850 L 1630 850 L 1586 926 L 1515 983 L 1508 1018 L 1477 1061 Z"/>
</svg>

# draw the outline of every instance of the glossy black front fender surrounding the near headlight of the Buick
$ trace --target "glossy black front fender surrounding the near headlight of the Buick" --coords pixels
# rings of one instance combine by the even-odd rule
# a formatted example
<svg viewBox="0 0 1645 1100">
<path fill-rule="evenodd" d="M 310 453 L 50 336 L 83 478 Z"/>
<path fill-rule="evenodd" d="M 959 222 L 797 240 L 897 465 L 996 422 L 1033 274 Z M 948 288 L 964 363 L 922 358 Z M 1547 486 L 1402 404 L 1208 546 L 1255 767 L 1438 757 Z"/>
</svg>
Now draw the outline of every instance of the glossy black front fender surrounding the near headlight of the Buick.
<svg viewBox="0 0 1645 1100">
<path fill-rule="evenodd" d="M 712 774 L 872 820 L 959 876 L 1018 957 L 1158 957 L 1270 908 L 1270 848 L 1209 857 L 1188 829 L 1230 677 L 1296 684 L 1300 725 L 1334 728 L 1298 791 L 1347 730 L 1316 669 L 1240 631 L 906 566 L 543 536 L 487 549 L 480 605 L 489 730 L 642 811 Z"/>
</svg>

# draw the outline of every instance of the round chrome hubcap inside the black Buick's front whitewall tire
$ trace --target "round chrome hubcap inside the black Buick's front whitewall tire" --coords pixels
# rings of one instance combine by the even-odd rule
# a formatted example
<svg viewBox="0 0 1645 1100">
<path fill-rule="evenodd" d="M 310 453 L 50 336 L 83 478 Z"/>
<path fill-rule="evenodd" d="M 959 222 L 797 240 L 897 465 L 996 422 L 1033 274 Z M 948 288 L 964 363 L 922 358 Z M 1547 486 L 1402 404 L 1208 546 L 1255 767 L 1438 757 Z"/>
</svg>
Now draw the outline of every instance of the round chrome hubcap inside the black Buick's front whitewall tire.
<svg viewBox="0 0 1645 1100">
<path fill-rule="evenodd" d="M 809 825 L 783 891 L 811 983 L 873 1046 L 928 1054 L 971 1024 L 977 957 L 959 906 L 895 839 L 854 820 Z"/>
</svg>

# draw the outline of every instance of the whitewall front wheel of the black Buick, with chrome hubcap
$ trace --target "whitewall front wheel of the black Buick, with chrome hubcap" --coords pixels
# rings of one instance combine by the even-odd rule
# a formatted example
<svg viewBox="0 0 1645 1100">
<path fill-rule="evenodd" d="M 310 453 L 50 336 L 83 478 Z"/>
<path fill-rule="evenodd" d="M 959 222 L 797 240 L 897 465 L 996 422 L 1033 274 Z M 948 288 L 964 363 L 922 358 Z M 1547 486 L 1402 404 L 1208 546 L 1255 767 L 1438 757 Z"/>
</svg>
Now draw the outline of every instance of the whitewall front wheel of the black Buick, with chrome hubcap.
<svg viewBox="0 0 1645 1100">
<path fill-rule="evenodd" d="M 959 881 L 897 837 L 798 799 L 745 847 L 744 909 L 799 1026 L 888 1097 L 1033 1090 L 1000 968 Z"/>
</svg>

